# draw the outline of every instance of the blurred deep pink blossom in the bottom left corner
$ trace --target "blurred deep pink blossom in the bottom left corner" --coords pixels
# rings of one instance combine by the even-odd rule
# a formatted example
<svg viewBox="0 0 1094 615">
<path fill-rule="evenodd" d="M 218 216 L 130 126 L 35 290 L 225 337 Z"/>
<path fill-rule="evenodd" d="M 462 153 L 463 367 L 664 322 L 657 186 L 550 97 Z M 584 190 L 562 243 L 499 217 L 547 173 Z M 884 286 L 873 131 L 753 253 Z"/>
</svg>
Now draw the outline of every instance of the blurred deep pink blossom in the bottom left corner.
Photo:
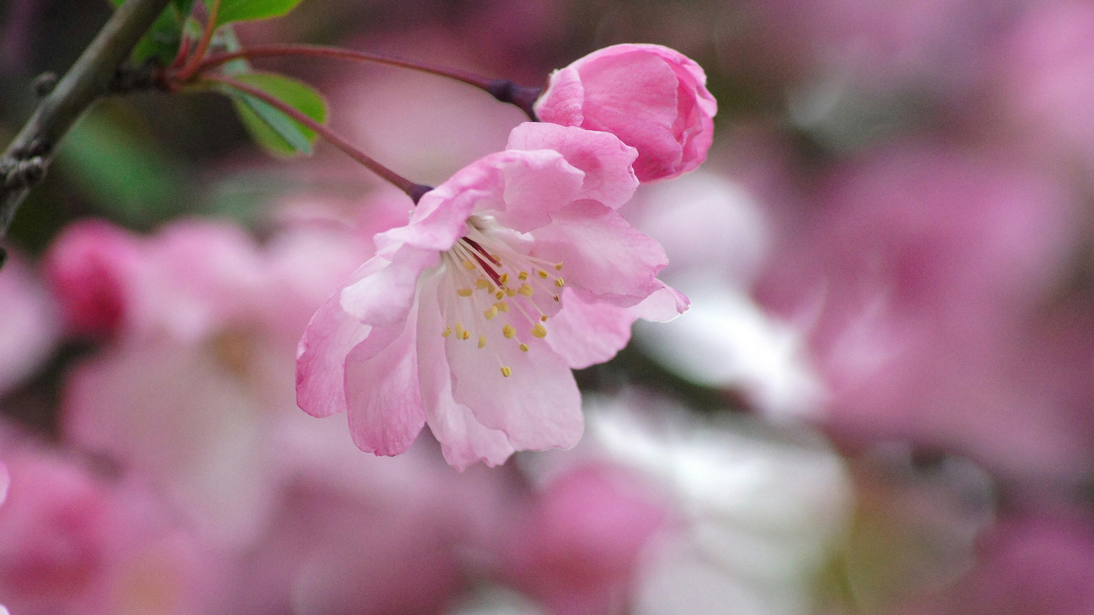
<svg viewBox="0 0 1094 615">
<path fill-rule="evenodd" d="M 35 444 L 5 459 L 0 600 L 16 613 L 184 615 L 217 595 L 216 564 L 148 494 Z"/>
</svg>

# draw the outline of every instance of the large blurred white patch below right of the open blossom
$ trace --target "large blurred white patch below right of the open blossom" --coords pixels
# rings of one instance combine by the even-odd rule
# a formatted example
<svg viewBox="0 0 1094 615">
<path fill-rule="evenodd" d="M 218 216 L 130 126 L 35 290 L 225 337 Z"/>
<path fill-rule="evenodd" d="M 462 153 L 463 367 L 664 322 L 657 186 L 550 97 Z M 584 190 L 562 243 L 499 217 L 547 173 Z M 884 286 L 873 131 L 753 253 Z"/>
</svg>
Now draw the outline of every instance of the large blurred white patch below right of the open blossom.
<svg viewBox="0 0 1094 615">
<path fill-rule="evenodd" d="M 657 479 L 680 517 L 680 530 L 649 548 L 632 613 L 811 612 L 852 499 L 822 438 L 787 440 L 749 419 L 702 420 L 651 399 L 586 406 L 586 438 Z"/>
</svg>

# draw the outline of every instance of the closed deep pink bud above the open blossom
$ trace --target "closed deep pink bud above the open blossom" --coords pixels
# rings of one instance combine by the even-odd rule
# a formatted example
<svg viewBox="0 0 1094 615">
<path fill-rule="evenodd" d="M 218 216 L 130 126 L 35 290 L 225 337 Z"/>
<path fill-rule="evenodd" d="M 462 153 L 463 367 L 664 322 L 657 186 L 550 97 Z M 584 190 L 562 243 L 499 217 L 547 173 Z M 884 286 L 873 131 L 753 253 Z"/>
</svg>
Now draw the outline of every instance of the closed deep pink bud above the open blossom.
<svg viewBox="0 0 1094 615">
<path fill-rule="evenodd" d="M 707 74 L 661 45 L 613 45 L 551 73 L 535 112 L 539 119 L 612 132 L 638 150 L 642 182 L 699 166 L 713 141 L 718 103 Z"/>
</svg>

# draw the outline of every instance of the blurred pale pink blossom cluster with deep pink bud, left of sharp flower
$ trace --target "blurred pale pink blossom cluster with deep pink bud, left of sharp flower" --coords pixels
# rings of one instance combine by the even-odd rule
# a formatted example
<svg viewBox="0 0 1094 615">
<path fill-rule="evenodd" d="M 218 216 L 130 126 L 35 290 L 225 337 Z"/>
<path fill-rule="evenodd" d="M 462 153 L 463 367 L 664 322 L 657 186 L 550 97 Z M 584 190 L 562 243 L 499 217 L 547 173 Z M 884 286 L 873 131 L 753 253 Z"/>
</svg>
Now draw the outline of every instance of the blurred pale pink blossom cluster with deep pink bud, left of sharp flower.
<svg viewBox="0 0 1094 615">
<path fill-rule="evenodd" d="M 299 336 L 366 255 L 360 237 L 316 227 L 264 246 L 214 222 L 151 237 L 69 228 L 48 256 L 56 286 L 75 322 L 112 305 L 113 336 L 68 375 L 67 441 L 149 481 L 203 532 L 246 542 L 283 473 L 275 434 L 299 413 Z"/>
</svg>

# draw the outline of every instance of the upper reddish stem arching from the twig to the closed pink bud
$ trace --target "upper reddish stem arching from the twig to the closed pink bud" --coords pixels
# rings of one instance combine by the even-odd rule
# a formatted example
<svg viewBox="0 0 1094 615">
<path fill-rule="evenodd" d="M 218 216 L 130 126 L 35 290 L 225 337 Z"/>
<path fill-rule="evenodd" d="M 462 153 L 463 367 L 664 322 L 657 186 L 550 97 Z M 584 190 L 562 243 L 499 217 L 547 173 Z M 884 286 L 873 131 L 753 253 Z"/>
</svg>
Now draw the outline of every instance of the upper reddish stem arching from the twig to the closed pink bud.
<svg viewBox="0 0 1094 615">
<path fill-rule="evenodd" d="M 381 63 L 387 66 L 394 66 L 399 68 L 408 68 L 411 70 L 417 70 L 420 72 L 428 72 L 430 74 L 437 74 L 440 77 L 447 77 L 449 79 L 455 79 L 456 81 L 462 81 L 468 85 L 474 85 L 480 90 L 488 92 L 494 98 L 503 103 L 510 103 L 516 105 L 532 119 L 536 120 L 535 113 L 532 109 L 532 104 L 535 103 L 536 98 L 539 97 L 539 93 L 543 91 L 542 88 L 525 88 L 523 85 L 517 85 L 508 79 L 489 79 L 480 74 L 475 74 L 474 72 L 467 72 L 464 70 L 458 70 L 454 68 L 446 68 L 437 65 L 431 65 L 427 62 L 416 62 L 410 60 L 404 60 L 400 58 L 393 58 L 391 56 L 382 56 L 380 54 L 370 54 L 368 51 L 357 51 L 353 49 L 342 49 L 340 47 L 324 47 L 321 45 L 294 45 L 294 44 L 282 44 L 282 45 L 255 45 L 254 47 L 248 47 L 246 49 L 241 49 L 238 51 L 232 51 L 228 54 L 213 54 L 208 58 L 203 59 L 197 65 L 197 68 L 190 73 L 206 71 L 210 68 L 236 60 L 240 58 L 270 58 L 275 56 L 311 56 L 317 58 L 337 58 L 342 60 L 362 61 Z M 188 76 L 186 76 L 188 77 Z M 186 77 L 181 76 L 181 79 Z"/>
</svg>

